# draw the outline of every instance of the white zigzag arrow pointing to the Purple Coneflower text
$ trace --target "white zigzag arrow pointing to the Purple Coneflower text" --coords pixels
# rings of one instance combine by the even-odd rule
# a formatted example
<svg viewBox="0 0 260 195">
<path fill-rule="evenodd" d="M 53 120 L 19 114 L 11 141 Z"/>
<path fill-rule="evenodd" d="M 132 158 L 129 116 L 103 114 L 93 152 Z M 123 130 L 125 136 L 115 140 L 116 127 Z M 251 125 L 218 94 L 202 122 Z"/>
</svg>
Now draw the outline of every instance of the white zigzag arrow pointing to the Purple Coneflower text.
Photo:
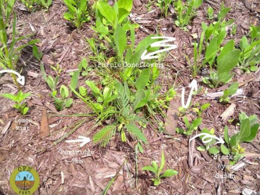
<svg viewBox="0 0 260 195">
<path fill-rule="evenodd" d="M 147 50 L 145 50 L 141 55 L 141 60 L 159 58 L 158 56 L 154 56 L 154 55 L 177 48 L 177 45 L 174 45 L 174 44 L 164 44 L 164 43 L 176 40 L 173 37 L 151 37 L 151 39 L 164 39 L 164 40 L 159 40 L 157 42 L 152 43 L 150 45 L 151 47 L 167 47 L 167 48 L 152 52 L 150 54 L 146 54 Z"/>
</svg>

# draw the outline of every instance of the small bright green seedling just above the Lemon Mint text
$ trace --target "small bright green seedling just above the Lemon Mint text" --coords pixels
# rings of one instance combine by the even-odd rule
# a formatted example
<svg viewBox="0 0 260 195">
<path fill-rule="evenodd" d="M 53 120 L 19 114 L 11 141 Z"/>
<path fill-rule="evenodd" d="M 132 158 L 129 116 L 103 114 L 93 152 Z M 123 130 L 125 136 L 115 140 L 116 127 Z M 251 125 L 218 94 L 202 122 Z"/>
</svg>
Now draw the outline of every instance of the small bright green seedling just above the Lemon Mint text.
<svg viewBox="0 0 260 195">
<path fill-rule="evenodd" d="M 14 105 L 14 108 L 19 110 L 22 115 L 25 115 L 28 112 L 29 107 L 26 107 L 26 102 L 25 103 L 22 103 L 22 102 L 26 98 L 31 96 L 30 93 L 23 94 L 22 91 L 20 90 L 16 96 L 13 94 L 2 94 L 1 96 L 3 98 L 8 98 L 8 99 L 16 102 L 16 104 Z"/>
</svg>

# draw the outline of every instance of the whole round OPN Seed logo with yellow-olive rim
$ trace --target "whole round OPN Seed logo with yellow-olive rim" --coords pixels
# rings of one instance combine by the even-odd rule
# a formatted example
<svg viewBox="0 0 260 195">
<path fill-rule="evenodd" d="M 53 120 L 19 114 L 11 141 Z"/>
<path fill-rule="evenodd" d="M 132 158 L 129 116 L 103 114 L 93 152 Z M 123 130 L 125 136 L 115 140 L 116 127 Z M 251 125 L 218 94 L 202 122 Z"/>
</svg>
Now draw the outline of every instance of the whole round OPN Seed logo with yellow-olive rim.
<svg viewBox="0 0 260 195">
<path fill-rule="evenodd" d="M 40 178 L 36 170 L 26 165 L 17 167 L 10 176 L 10 185 L 19 195 L 33 194 L 39 184 Z"/>
</svg>

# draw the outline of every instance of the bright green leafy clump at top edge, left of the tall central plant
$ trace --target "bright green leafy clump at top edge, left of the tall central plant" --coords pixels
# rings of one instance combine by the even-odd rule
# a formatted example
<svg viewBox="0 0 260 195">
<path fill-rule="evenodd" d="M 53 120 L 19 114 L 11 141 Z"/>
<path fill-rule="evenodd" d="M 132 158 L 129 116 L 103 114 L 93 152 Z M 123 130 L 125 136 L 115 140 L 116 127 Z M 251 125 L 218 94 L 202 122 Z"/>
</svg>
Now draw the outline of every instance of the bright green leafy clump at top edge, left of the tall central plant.
<svg viewBox="0 0 260 195">
<path fill-rule="evenodd" d="M 64 0 L 68 11 L 65 12 L 63 18 L 71 21 L 77 28 L 80 28 L 82 23 L 90 20 L 87 9 L 88 0 Z"/>
</svg>

